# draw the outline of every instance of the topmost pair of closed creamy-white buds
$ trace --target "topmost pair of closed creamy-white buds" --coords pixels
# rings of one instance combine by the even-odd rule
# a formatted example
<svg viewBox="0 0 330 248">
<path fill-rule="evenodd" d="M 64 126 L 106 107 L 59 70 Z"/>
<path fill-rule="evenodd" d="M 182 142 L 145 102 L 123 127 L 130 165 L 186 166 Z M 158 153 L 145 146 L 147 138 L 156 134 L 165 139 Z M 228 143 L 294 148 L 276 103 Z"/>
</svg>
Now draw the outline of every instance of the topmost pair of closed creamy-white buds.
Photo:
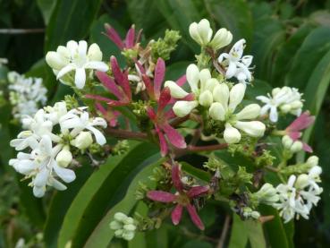
<svg viewBox="0 0 330 248">
<path fill-rule="evenodd" d="M 227 46 L 233 39 L 232 33 L 223 28 L 217 30 L 215 37 L 211 40 L 213 30 L 207 19 L 202 19 L 199 23 L 192 22 L 189 27 L 189 33 L 190 37 L 199 43 L 200 46 L 205 47 L 209 45 L 215 50 Z"/>
</svg>

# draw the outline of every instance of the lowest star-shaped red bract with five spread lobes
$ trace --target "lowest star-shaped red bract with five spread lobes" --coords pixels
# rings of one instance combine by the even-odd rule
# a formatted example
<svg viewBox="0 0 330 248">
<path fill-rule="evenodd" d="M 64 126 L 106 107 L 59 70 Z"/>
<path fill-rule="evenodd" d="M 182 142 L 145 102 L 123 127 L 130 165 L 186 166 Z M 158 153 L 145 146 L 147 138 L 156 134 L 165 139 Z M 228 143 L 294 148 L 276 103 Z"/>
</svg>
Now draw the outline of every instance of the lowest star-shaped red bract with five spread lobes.
<svg viewBox="0 0 330 248">
<path fill-rule="evenodd" d="M 175 194 L 164 191 L 149 191 L 147 197 L 152 201 L 176 203 L 171 215 L 174 225 L 180 223 L 182 210 L 186 208 L 195 226 L 199 227 L 200 230 L 204 230 L 203 222 L 199 218 L 197 210 L 191 204 L 191 201 L 195 198 L 199 198 L 202 194 L 206 194 L 209 190 L 209 186 L 194 186 L 190 188 L 190 190 L 185 191 L 181 180 L 181 169 L 178 165 L 172 167 L 172 182 L 177 190 Z"/>
</svg>

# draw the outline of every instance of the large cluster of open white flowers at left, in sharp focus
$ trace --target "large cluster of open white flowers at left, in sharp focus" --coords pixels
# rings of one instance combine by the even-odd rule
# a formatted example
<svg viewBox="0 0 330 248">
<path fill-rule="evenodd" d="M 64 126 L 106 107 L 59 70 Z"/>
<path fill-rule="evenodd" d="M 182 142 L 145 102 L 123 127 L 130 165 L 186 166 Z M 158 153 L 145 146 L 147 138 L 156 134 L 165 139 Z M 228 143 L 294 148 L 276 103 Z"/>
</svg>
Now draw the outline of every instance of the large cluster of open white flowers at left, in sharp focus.
<svg viewBox="0 0 330 248">
<path fill-rule="evenodd" d="M 75 179 L 72 169 L 66 168 L 72 163 L 72 146 L 87 149 L 93 143 L 92 134 L 99 145 L 106 143 L 105 136 L 95 128 L 105 128 L 106 120 L 89 118 L 85 109 L 79 107 L 68 111 L 65 102 L 58 102 L 54 107 L 39 109 L 33 117 L 26 116 L 22 120 L 27 130 L 11 141 L 10 145 L 20 152 L 9 164 L 25 178 L 31 178 L 30 186 L 36 197 L 45 194 L 47 185 L 65 190 L 66 186 L 58 179 L 64 183 Z"/>
</svg>

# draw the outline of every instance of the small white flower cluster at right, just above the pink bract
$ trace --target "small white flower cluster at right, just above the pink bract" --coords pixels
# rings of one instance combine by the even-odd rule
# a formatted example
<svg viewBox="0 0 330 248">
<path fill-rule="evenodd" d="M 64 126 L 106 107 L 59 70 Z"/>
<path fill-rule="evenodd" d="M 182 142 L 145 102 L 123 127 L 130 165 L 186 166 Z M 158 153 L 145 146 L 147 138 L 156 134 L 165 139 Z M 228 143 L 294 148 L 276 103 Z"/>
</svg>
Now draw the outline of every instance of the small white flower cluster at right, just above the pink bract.
<svg viewBox="0 0 330 248">
<path fill-rule="evenodd" d="M 275 88 L 272 90 L 272 95 L 268 93 L 267 97 L 258 96 L 257 99 L 265 103 L 260 115 L 265 115 L 269 111 L 269 120 L 273 123 L 278 120 L 278 109 L 283 114 L 290 113 L 299 116 L 303 106 L 301 95 L 298 89 L 284 86 Z"/>
</svg>

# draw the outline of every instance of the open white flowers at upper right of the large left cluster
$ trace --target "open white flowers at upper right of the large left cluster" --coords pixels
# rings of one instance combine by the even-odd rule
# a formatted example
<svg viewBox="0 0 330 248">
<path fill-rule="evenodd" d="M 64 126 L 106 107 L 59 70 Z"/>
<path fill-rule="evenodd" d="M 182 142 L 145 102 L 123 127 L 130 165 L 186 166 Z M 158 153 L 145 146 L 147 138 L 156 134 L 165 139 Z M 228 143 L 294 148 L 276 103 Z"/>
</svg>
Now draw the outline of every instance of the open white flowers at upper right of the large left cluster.
<svg viewBox="0 0 330 248">
<path fill-rule="evenodd" d="M 60 125 L 63 129 L 72 129 L 71 135 L 77 136 L 83 130 L 89 130 L 94 134 L 99 145 L 106 143 L 106 137 L 94 126 L 106 128 L 106 120 L 100 117 L 89 118 L 89 113 L 84 111 L 84 107 L 72 109 L 60 119 Z"/>
</svg>

